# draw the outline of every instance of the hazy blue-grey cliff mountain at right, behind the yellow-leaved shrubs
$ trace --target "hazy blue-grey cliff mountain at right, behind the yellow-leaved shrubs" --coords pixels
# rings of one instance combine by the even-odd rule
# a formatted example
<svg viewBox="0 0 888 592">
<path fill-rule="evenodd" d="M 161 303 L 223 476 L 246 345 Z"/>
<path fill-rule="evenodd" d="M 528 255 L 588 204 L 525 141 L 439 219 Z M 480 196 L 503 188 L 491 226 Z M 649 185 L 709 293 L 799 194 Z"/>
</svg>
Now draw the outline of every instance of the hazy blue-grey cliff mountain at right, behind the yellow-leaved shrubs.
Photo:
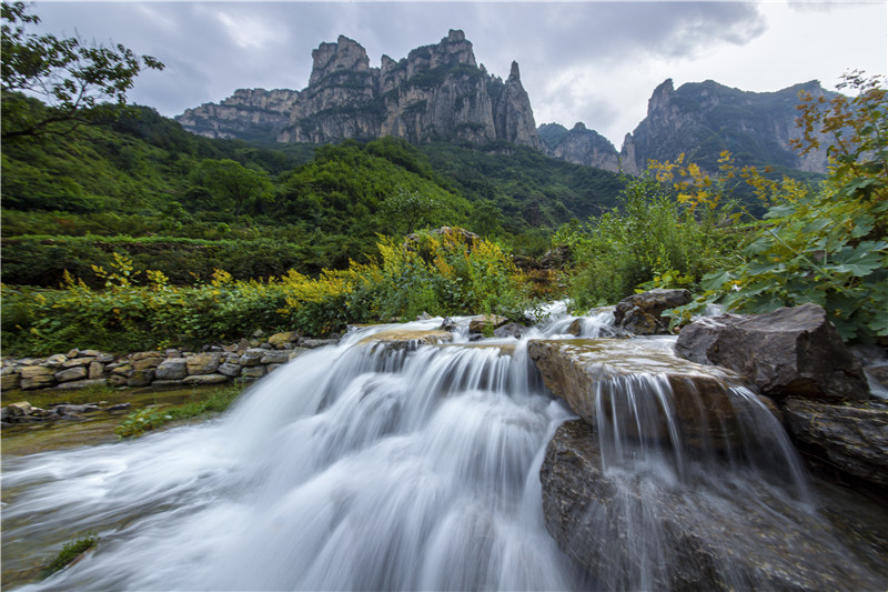
<svg viewBox="0 0 888 592">
<path fill-rule="evenodd" d="M 796 84 L 776 92 L 745 92 L 712 80 L 683 84 L 666 80 L 654 90 L 647 117 L 626 136 L 620 160 L 637 174 L 647 161 L 688 160 L 715 170 L 718 154 L 729 150 L 744 163 L 766 163 L 810 172 L 826 172 L 826 147 L 805 157 L 789 148 L 797 137 L 798 93 L 826 91 L 819 82 Z"/>
</svg>

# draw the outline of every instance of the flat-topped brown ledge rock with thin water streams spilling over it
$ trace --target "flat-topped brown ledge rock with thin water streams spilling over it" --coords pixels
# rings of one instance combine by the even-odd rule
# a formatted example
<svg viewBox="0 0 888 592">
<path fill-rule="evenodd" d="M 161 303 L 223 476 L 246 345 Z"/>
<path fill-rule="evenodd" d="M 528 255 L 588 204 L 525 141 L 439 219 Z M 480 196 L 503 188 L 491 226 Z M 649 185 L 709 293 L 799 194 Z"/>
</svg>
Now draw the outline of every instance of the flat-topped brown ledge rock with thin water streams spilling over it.
<svg viewBox="0 0 888 592">
<path fill-rule="evenodd" d="M 693 455 L 737 450 L 755 423 L 777 428 L 774 405 L 740 377 L 629 340 L 531 340 L 527 353 L 548 389 L 593 425 L 623 438 L 672 442 Z"/>
</svg>

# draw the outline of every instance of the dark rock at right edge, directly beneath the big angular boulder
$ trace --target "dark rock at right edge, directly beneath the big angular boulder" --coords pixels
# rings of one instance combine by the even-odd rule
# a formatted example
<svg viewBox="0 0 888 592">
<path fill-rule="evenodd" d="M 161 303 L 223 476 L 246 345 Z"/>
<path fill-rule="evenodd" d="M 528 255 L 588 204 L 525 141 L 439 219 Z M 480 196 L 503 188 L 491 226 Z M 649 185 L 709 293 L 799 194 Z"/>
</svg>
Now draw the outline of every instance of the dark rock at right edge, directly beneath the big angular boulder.
<svg viewBox="0 0 888 592">
<path fill-rule="evenodd" d="M 789 433 L 806 453 L 833 469 L 888 488 L 888 405 L 787 399 L 784 414 Z"/>
</svg>

